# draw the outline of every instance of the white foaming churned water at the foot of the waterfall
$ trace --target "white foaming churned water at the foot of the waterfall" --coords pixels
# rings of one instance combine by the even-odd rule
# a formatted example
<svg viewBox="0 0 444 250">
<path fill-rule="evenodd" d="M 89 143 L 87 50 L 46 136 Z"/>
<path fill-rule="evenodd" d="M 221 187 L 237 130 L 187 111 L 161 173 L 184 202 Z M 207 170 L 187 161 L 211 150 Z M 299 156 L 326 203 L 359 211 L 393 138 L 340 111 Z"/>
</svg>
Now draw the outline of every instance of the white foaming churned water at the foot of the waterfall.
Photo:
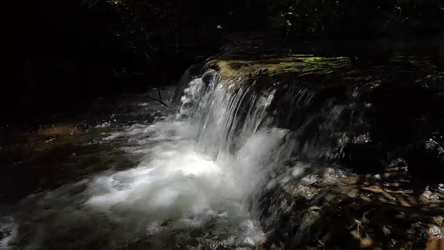
<svg viewBox="0 0 444 250">
<path fill-rule="evenodd" d="M 269 151 L 263 142 L 274 136 L 253 137 L 244 154 L 215 160 L 196 151 L 191 122 L 128 126 L 104 140 L 126 140 L 126 153 L 142 155 L 142 163 L 28 197 L 8 244 L 11 249 L 119 249 L 137 240 L 151 242 L 151 249 L 194 240 L 254 245 L 263 233 L 246 206 L 255 178 L 248 168 L 261 164 Z M 194 236 L 184 238 L 190 231 Z"/>
</svg>

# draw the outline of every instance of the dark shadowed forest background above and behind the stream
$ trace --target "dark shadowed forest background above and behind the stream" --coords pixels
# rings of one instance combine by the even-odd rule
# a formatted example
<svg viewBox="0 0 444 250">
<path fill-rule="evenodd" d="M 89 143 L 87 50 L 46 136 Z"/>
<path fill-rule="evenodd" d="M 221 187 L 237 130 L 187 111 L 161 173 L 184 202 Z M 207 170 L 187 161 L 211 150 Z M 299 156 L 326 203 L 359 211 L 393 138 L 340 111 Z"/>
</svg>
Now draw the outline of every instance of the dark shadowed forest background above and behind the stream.
<svg viewBox="0 0 444 250">
<path fill-rule="evenodd" d="M 442 31 L 441 0 L 43 0 L 22 3 L 18 74 L 2 123 L 80 110 L 96 97 L 175 84 L 230 35 L 368 40 Z M 42 115 L 43 114 L 43 115 Z"/>
</svg>

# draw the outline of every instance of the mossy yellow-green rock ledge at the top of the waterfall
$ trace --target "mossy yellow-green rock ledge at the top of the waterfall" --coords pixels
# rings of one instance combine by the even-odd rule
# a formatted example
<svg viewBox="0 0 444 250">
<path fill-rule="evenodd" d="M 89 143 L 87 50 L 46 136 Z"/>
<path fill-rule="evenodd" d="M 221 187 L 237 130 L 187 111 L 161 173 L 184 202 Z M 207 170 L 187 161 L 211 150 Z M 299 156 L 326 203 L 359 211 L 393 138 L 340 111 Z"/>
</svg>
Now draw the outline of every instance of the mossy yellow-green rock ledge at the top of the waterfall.
<svg viewBox="0 0 444 250">
<path fill-rule="evenodd" d="M 248 60 L 221 56 L 221 59 L 207 62 L 205 68 L 214 69 L 221 76 L 223 83 L 257 83 L 259 78 L 268 78 L 271 80 L 269 82 L 301 79 L 312 85 L 355 83 L 345 79 L 345 73 L 353 69 L 347 57 L 324 58 L 289 54 L 279 57 L 264 55 Z"/>
</svg>

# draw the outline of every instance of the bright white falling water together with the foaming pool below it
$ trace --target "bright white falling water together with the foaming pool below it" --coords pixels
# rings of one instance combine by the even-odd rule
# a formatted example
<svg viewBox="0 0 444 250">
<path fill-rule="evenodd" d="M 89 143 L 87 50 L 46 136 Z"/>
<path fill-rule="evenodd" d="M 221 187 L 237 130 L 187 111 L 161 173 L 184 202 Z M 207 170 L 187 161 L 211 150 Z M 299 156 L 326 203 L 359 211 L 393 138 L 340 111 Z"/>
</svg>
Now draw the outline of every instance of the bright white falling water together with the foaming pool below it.
<svg viewBox="0 0 444 250">
<path fill-rule="evenodd" d="M 264 125 L 272 92 L 257 96 L 230 84 L 197 78 L 178 113 L 104 135 L 99 143 L 121 140 L 141 163 L 27 197 L 13 219 L 3 217 L 9 236 L 0 248 L 259 246 L 265 236 L 251 201 L 289 155 L 281 147 L 287 131 Z"/>
</svg>

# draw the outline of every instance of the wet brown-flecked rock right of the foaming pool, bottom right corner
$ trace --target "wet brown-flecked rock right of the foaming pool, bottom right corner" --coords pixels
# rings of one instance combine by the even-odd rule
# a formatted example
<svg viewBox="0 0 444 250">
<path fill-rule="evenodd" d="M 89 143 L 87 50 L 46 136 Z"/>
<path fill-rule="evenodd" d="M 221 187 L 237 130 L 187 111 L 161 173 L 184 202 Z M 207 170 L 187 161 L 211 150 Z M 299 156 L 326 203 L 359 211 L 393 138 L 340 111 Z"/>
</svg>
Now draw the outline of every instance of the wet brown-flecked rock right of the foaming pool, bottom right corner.
<svg viewBox="0 0 444 250">
<path fill-rule="evenodd" d="M 404 197 L 412 194 L 366 184 L 375 181 L 370 177 L 359 181 L 338 177 L 329 185 L 314 178 L 306 188 L 300 187 L 300 181 L 277 186 L 265 194 L 273 206 L 266 206 L 268 213 L 262 214 L 261 222 L 272 241 L 283 242 L 281 249 L 409 249 L 411 242 L 425 246 L 427 239 L 421 235 L 431 228 L 438 232 L 442 203 L 435 201 L 436 208 L 421 208 L 426 203 L 408 206 Z M 307 196 L 307 188 L 317 190 L 315 195 Z M 286 202 L 280 202 L 283 197 Z"/>
</svg>

